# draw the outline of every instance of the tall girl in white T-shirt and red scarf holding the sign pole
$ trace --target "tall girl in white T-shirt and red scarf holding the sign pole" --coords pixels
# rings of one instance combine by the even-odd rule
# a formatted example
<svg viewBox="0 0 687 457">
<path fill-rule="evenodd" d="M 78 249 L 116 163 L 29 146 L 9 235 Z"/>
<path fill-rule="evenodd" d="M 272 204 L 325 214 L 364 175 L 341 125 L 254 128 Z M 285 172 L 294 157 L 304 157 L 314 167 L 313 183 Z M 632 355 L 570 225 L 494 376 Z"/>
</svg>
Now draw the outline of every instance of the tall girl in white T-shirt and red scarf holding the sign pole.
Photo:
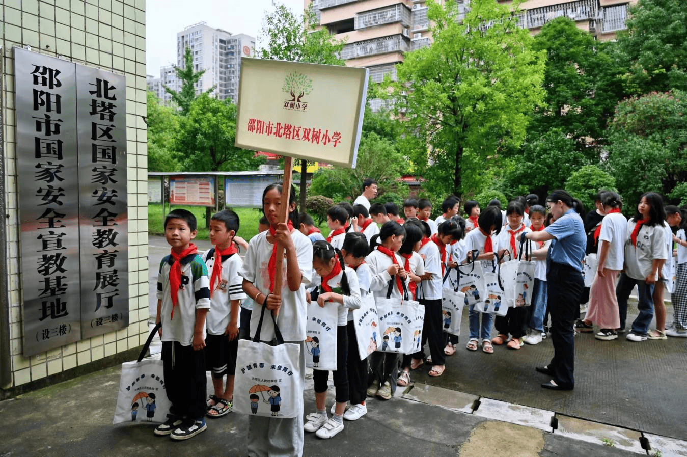
<svg viewBox="0 0 687 457">
<path fill-rule="evenodd" d="M 293 186 L 289 203 L 282 202 L 282 185 L 270 184 L 262 192 L 262 212 L 269 221 L 269 230 L 254 236 L 246 252 L 243 269 L 243 291 L 254 300 L 251 314 L 251 338 L 260 320 L 261 306 L 278 311 L 279 325 L 284 342 L 300 346 L 300 370 L 305 379 L 306 300 L 305 286 L 313 276 L 313 245 L 307 236 L 294 228 L 298 226 L 298 210 Z M 289 205 L 289 222 L 280 221 L 280 207 Z M 275 262 L 279 245 L 284 247 L 282 290 L 275 295 Z M 271 341 L 274 337 L 272 320 L 264 320 L 261 337 Z M 248 418 L 248 454 L 251 456 L 301 456 L 303 454 L 303 405 L 293 419 L 260 417 Z"/>
</svg>

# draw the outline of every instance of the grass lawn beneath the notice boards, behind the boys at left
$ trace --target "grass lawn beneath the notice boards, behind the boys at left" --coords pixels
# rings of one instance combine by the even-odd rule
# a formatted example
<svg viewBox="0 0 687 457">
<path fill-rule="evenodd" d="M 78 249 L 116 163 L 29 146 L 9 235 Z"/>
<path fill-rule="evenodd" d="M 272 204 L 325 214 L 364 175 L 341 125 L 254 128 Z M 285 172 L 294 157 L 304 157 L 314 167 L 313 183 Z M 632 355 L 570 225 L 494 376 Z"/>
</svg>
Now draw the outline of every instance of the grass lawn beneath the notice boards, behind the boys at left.
<svg viewBox="0 0 687 457">
<path fill-rule="evenodd" d="M 176 208 L 189 210 L 196 216 L 196 220 L 198 221 L 198 236 L 196 236 L 196 238 L 199 240 L 210 239 L 210 230 L 205 227 L 205 207 L 172 205 L 172 210 Z M 170 211 L 169 205 L 167 206 L 167 211 Z M 260 221 L 262 217 L 262 211 L 255 208 L 234 208 L 234 211 L 238 214 L 238 219 L 240 221 L 238 236 L 243 236 L 246 241 L 249 241 L 258 234 L 258 221 Z M 148 203 L 148 234 L 164 235 L 164 221 L 165 219 L 162 216 L 162 205 Z M 329 227 L 327 227 L 326 222 L 319 228 L 322 230 L 324 236 L 329 234 Z"/>
</svg>

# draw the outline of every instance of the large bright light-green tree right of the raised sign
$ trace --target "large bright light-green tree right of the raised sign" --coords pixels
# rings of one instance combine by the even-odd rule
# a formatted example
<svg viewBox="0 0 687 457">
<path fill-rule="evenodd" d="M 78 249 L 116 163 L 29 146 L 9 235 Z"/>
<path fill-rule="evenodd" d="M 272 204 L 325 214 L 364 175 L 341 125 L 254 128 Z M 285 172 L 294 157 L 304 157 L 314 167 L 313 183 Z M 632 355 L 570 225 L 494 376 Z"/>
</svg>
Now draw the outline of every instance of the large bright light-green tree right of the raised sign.
<svg viewBox="0 0 687 457">
<path fill-rule="evenodd" d="M 517 26 L 518 3 L 474 0 L 462 21 L 455 2 L 428 4 L 434 43 L 405 55 L 392 97 L 409 134 L 429 145 L 413 157 L 417 171 L 433 192 L 460 196 L 470 190 L 462 180 L 466 151 L 484 167 L 525 137 L 529 113 L 543 100 L 545 56 Z"/>
</svg>

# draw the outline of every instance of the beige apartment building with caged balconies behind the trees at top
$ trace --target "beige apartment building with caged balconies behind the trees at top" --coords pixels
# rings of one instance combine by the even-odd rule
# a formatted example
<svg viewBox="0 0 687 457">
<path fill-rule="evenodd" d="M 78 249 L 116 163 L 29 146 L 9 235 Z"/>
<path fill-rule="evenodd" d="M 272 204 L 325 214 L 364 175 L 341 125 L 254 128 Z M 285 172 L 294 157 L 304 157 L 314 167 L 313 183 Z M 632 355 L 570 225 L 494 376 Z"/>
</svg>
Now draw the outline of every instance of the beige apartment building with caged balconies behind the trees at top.
<svg viewBox="0 0 687 457">
<path fill-rule="evenodd" d="M 440 0 L 458 3 L 460 14 L 469 0 Z M 510 0 L 497 0 L 510 3 Z M 385 74 L 396 78 L 397 63 L 403 53 L 431 45 L 426 0 L 304 0 L 313 4 L 319 25 L 346 38 L 342 58 L 351 67 L 367 67 L 374 82 Z M 627 10 L 636 0 L 526 0 L 521 3 L 520 26 L 537 34 L 541 27 L 559 16 L 568 16 L 581 30 L 602 41 L 616 38 L 625 28 Z M 372 109 L 387 102 L 372 100 Z"/>
</svg>

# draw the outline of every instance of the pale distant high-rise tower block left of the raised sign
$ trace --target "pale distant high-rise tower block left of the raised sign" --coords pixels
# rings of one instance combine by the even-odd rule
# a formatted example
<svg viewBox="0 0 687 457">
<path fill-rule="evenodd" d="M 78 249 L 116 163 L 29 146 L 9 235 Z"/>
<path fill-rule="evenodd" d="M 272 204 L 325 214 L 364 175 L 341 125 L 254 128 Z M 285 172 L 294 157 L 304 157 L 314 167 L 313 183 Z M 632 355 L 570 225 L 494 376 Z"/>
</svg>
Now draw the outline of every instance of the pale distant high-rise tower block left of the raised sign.
<svg viewBox="0 0 687 457">
<path fill-rule="evenodd" d="M 219 100 L 238 98 L 238 78 L 240 76 L 241 56 L 251 56 L 256 39 L 246 34 L 232 34 L 222 29 L 208 27 L 205 22 L 186 27 L 177 33 L 177 66 L 183 67 L 186 48 L 191 49 L 194 71 L 205 70 L 201 80 L 196 83 L 196 93 L 208 89 Z M 168 102 L 171 100 L 164 86 L 179 90 L 173 66 L 161 67 L 160 78 L 149 81 L 150 90 Z M 157 90 L 156 90 L 157 89 Z"/>
</svg>

